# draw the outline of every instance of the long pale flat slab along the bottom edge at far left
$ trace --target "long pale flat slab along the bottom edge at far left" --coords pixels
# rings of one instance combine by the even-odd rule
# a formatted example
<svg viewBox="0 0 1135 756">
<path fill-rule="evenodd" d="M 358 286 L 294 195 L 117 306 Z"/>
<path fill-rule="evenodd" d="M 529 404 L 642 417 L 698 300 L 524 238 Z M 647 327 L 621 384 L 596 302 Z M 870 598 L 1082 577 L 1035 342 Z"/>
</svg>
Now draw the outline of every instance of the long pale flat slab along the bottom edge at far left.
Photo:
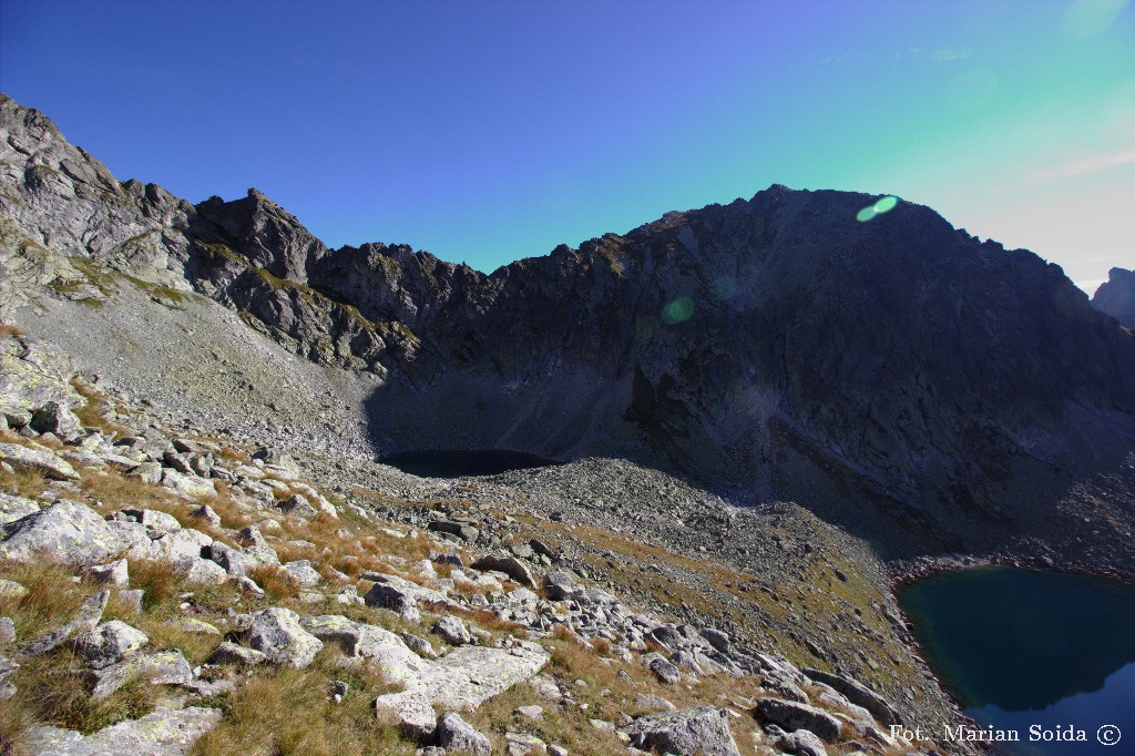
<svg viewBox="0 0 1135 756">
<path fill-rule="evenodd" d="M 35 756 L 185 756 L 193 744 L 220 724 L 216 708 L 159 708 L 89 736 L 52 726 L 33 728 L 28 750 Z"/>
</svg>

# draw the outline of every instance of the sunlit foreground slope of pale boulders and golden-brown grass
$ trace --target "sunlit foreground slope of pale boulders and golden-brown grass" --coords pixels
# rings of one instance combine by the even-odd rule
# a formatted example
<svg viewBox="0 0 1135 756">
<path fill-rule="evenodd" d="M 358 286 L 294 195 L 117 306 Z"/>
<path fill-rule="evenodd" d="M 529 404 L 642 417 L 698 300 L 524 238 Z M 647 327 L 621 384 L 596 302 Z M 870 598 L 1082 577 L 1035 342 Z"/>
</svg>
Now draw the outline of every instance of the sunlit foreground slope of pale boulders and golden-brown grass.
<svg viewBox="0 0 1135 756">
<path fill-rule="evenodd" d="M 958 720 L 881 565 L 797 507 L 312 457 L 340 497 L 18 329 L 0 355 L 0 753 L 932 753 L 890 725 Z"/>
</svg>

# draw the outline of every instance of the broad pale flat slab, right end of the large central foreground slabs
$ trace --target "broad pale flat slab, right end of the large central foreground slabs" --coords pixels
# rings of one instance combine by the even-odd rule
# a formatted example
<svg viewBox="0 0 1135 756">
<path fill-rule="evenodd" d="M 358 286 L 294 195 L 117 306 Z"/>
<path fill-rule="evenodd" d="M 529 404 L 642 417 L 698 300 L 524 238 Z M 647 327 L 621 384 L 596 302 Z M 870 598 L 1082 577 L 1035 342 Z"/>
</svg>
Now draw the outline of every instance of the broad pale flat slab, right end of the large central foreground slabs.
<svg viewBox="0 0 1135 756">
<path fill-rule="evenodd" d="M 518 682 L 531 679 L 548 663 L 548 653 L 536 644 L 513 648 L 462 646 L 434 662 L 415 684 L 434 704 L 451 711 L 476 709 Z"/>
</svg>

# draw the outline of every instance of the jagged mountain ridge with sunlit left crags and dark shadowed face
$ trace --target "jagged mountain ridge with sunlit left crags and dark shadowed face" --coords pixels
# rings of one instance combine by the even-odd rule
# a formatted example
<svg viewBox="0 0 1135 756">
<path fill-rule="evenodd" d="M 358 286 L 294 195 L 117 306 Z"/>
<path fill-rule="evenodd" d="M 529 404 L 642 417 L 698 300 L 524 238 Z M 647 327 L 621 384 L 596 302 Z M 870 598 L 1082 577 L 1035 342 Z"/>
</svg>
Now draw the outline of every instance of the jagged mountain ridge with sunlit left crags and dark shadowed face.
<svg viewBox="0 0 1135 756">
<path fill-rule="evenodd" d="M 924 207 L 859 222 L 875 196 L 773 186 L 486 276 L 330 251 L 254 190 L 191 205 L 119 185 L 2 108 L 5 222 L 45 250 L 33 270 L 7 243 L 12 297 L 58 280 L 59 253 L 192 287 L 378 376 L 380 454 L 627 456 L 914 554 L 1059 538 L 1053 503 L 1135 448 L 1135 336 L 1059 267 Z"/>
</svg>

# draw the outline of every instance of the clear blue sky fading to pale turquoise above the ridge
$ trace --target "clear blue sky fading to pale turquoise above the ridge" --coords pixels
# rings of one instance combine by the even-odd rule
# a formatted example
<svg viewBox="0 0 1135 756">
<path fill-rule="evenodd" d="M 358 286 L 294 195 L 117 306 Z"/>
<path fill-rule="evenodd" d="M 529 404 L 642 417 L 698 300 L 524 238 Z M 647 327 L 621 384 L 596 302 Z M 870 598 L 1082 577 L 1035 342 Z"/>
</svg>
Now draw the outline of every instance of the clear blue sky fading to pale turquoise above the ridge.
<svg viewBox="0 0 1135 756">
<path fill-rule="evenodd" d="M 482 270 L 773 183 L 1135 267 L 1129 0 L 2 0 L 0 90 L 121 179 Z"/>
</svg>

